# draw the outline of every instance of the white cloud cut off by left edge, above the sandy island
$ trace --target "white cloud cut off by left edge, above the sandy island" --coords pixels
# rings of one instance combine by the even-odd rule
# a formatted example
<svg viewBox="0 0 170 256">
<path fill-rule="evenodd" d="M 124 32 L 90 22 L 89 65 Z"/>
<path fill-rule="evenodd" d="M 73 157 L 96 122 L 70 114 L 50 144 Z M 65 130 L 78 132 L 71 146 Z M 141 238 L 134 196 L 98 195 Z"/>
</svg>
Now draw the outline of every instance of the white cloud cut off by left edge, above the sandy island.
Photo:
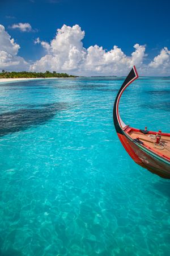
<svg viewBox="0 0 170 256">
<path fill-rule="evenodd" d="M 11 39 L 5 27 L 0 24 L 0 69 L 28 69 L 28 63 L 18 56 L 19 48 L 19 44 L 16 44 L 13 38 Z"/>
</svg>

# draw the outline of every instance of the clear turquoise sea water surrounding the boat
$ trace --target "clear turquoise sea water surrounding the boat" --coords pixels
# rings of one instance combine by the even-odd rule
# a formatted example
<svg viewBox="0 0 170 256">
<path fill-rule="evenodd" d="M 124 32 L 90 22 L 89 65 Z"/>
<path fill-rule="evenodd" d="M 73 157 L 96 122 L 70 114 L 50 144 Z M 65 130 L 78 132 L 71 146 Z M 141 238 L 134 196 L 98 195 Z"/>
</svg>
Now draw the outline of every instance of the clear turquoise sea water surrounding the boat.
<svg viewBox="0 0 170 256">
<path fill-rule="evenodd" d="M 131 160 L 112 109 L 124 79 L 0 86 L 0 255 L 170 254 L 170 180 Z M 126 89 L 125 123 L 169 132 L 170 77 Z"/>
</svg>

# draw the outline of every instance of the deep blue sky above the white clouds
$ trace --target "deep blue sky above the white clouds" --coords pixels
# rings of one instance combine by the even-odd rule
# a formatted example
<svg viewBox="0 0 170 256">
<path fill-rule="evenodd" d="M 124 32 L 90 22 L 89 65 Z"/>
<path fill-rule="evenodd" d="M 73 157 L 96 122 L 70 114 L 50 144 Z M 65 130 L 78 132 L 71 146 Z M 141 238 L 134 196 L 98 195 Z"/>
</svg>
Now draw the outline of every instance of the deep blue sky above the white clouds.
<svg viewBox="0 0 170 256">
<path fill-rule="evenodd" d="M 114 45 L 130 56 L 134 44 L 146 45 L 145 63 L 170 48 L 169 1 L 77 1 L 77 0 L 1 0 L 0 24 L 19 44 L 19 56 L 36 61 L 44 48 L 36 38 L 50 42 L 63 24 L 78 24 L 85 36 L 83 47 L 97 44 L 111 50 Z M 12 29 L 12 24 L 29 23 L 32 31 Z"/>
</svg>

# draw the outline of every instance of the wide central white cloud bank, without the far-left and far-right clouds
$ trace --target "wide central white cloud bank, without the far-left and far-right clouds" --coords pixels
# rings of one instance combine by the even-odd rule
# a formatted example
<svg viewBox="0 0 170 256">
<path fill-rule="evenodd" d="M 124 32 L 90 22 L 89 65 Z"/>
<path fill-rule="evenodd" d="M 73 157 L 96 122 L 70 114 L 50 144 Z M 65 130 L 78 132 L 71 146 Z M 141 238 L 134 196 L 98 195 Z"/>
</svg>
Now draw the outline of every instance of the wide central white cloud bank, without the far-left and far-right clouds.
<svg viewBox="0 0 170 256">
<path fill-rule="evenodd" d="M 30 69 L 66 71 L 78 75 L 121 75 L 133 65 L 142 65 L 146 56 L 145 46 L 139 44 L 135 44 L 135 51 L 131 56 L 126 56 L 117 46 L 111 51 L 105 51 L 97 45 L 86 49 L 82 43 L 84 35 L 85 32 L 78 25 L 63 25 L 50 43 L 37 38 L 35 43 L 40 43 L 45 48 L 46 55 L 31 65 Z"/>
</svg>

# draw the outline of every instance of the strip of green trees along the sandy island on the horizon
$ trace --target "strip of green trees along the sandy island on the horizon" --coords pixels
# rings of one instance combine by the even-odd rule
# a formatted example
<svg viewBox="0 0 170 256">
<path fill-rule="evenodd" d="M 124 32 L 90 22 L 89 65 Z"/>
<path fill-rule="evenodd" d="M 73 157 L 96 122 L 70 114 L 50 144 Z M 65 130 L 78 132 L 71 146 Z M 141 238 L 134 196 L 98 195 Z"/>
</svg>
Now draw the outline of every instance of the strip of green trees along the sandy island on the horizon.
<svg viewBox="0 0 170 256">
<path fill-rule="evenodd" d="M 57 73 L 56 71 L 53 71 L 53 73 L 46 71 L 45 73 L 42 72 L 7 72 L 5 70 L 2 70 L 2 73 L 0 73 L 0 79 L 1 78 L 48 78 L 48 77 L 76 77 L 73 75 L 68 75 L 67 73 Z"/>
</svg>

